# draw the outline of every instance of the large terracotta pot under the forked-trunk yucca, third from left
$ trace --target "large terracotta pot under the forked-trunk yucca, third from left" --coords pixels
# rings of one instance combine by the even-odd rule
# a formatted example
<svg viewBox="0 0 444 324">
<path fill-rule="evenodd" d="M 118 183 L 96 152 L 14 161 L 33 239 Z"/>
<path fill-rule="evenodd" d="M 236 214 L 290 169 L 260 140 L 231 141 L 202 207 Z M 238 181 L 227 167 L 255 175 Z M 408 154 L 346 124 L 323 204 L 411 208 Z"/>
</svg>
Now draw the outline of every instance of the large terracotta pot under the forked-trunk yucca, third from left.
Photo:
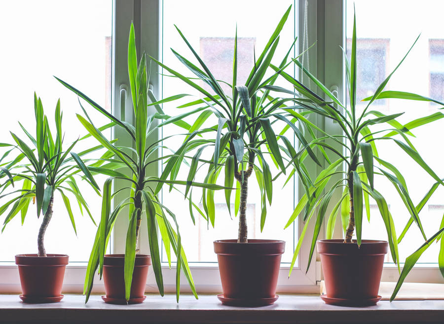
<svg viewBox="0 0 444 324">
<path fill-rule="evenodd" d="M 223 291 L 218 297 L 222 303 L 237 306 L 274 303 L 284 249 L 285 242 L 276 240 L 215 241 Z"/>
</svg>

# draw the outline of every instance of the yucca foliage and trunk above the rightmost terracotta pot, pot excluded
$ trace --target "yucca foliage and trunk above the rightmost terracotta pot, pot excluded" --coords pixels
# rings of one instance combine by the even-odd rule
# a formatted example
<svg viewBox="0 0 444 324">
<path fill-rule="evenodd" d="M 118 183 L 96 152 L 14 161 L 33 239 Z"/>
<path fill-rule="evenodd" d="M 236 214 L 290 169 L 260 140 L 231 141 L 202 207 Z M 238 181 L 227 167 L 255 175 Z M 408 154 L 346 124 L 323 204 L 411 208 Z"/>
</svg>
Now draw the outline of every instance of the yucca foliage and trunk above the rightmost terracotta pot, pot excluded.
<svg viewBox="0 0 444 324">
<path fill-rule="evenodd" d="M 418 37 L 419 38 L 419 37 Z M 417 39 L 414 43 L 416 43 Z M 413 43 L 413 45 L 414 45 Z M 412 49 L 413 45 L 407 51 L 406 56 Z M 424 240 L 427 241 L 426 235 L 421 225 L 418 213 L 424 206 L 428 197 L 424 198 L 417 206 L 415 206 L 410 199 L 407 191 L 407 184 L 404 176 L 396 168 L 395 165 L 385 161 L 383 157 L 378 155 L 376 144 L 381 141 L 391 141 L 399 146 L 407 155 L 412 158 L 420 167 L 422 167 L 433 179 L 437 181 L 436 186 L 439 184 L 444 185 L 443 181 L 438 175 L 427 165 L 421 158 L 420 154 L 409 141 L 408 136 L 413 136 L 411 130 L 415 127 L 424 125 L 429 122 L 436 121 L 444 117 L 441 112 L 433 115 L 418 118 L 407 124 L 403 125 L 397 121 L 403 113 L 384 115 L 377 110 L 369 110 L 371 104 L 377 99 L 384 98 L 398 98 L 409 100 L 421 100 L 432 101 L 438 104 L 443 103 L 431 98 L 423 97 L 413 93 L 401 92 L 401 91 L 383 91 L 388 81 L 392 77 L 393 73 L 399 68 L 404 58 L 396 66 L 396 68 L 389 74 L 389 76 L 378 86 L 375 93 L 365 98 L 368 104 L 362 112 L 358 111 L 356 88 L 357 88 L 357 61 L 356 61 L 356 17 L 353 24 L 353 38 L 351 48 L 351 60 L 347 59 L 344 52 L 344 60 L 346 66 L 346 79 L 347 89 L 350 106 L 346 106 L 345 103 L 341 103 L 320 81 L 318 81 L 312 74 L 310 74 L 302 65 L 295 61 L 298 68 L 302 69 L 303 73 L 312 80 L 317 88 L 325 94 L 328 101 L 324 100 L 316 94 L 315 91 L 310 90 L 301 82 L 295 80 L 288 74 L 281 72 L 281 75 L 289 81 L 295 91 L 302 98 L 309 100 L 305 109 L 311 113 L 318 114 L 322 117 L 328 118 L 336 122 L 343 131 L 342 135 L 331 135 L 328 133 L 323 134 L 317 141 L 328 140 L 328 142 L 322 143 L 323 147 L 330 150 L 333 155 L 337 156 L 335 162 L 331 162 L 327 167 L 322 170 L 314 181 L 314 185 L 309 189 L 309 195 L 304 195 L 296 206 L 296 209 L 290 217 L 286 227 L 288 227 L 296 217 L 301 214 L 305 222 L 305 226 L 301 232 L 299 242 L 296 246 L 296 250 L 293 257 L 291 268 L 293 268 L 296 256 L 298 255 L 300 245 L 304 239 L 305 231 L 310 222 L 315 222 L 314 234 L 311 240 L 311 248 L 309 254 L 308 267 L 310 266 L 310 260 L 314 252 L 316 240 L 318 238 L 321 226 L 323 224 L 327 207 L 331 202 L 333 193 L 336 190 L 343 191 L 342 197 L 339 201 L 334 202 L 333 210 L 330 214 L 327 223 L 327 239 L 331 239 L 333 236 L 334 223 L 340 208 L 342 216 L 342 226 L 344 229 L 344 242 L 352 243 L 352 237 L 356 234 L 356 243 L 358 245 L 362 242 L 362 219 L 363 219 L 363 206 L 365 203 L 367 217 L 370 220 L 370 205 L 369 199 L 373 198 L 379 208 L 379 212 L 384 221 L 384 225 L 387 231 L 388 243 L 392 258 L 397 263 L 398 268 L 400 264 L 398 255 L 398 243 L 401 241 L 402 236 L 398 239 L 395 227 L 393 223 L 392 215 L 389 212 L 387 202 L 383 195 L 375 189 L 374 176 L 378 175 L 384 177 L 390 181 L 396 188 L 399 196 L 404 202 L 409 214 L 411 215 L 411 222 L 415 222 L 418 226 Z M 273 67 L 275 71 L 279 69 Z M 335 107 L 337 106 L 337 108 Z M 372 126 L 376 125 L 376 129 L 372 129 Z M 321 131 L 320 129 L 318 129 Z M 398 138 L 394 136 L 398 135 Z M 334 143 L 336 146 L 342 147 L 342 150 L 335 149 L 332 146 Z M 345 163 L 347 170 L 342 171 L 341 165 Z M 333 175 L 342 174 L 342 178 L 334 182 L 330 181 Z M 436 189 L 436 188 L 435 188 Z M 316 217 L 312 217 L 316 207 L 319 206 Z M 307 271 L 308 271 L 307 267 Z M 410 268 L 411 269 L 411 268 Z M 291 270 L 290 270 L 291 273 Z"/>
</svg>

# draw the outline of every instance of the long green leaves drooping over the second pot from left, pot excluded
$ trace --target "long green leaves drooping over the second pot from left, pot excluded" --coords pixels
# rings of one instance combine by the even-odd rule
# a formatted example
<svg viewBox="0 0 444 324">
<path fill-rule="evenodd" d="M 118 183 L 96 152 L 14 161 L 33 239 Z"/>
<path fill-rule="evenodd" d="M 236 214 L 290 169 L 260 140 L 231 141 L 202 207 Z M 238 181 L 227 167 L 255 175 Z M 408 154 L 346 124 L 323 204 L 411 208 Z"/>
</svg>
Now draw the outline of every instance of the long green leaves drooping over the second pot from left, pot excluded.
<svg viewBox="0 0 444 324">
<path fill-rule="evenodd" d="M 153 159 L 152 153 L 157 150 L 159 147 L 159 142 L 156 141 L 152 144 L 147 143 L 147 138 L 149 136 L 155 135 L 157 128 L 154 123 L 154 116 L 148 114 L 148 101 L 156 101 L 153 100 L 154 96 L 148 90 L 149 83 L 149 70 L 147 68 L 147 59 L 146 54 L 142 54 L 142 58 L 138 64 L 137 61 L 137 53 L 136 53 L 136 44 L 135 44 L 135 34 L 134 34 L 134 26 L 131 24 L 131 29 L 129 33 L 129 41 L 128 41 L 128 75 L 130 79 L 131 86 L 131 94 L 132 94 L 132 102 L 134 108 L 134 114 L 136 116 L 136 122 L 134 125 L 128 124 L 127 122 L 120 121 L 118 118 L 112 116 L 108 113 L 104 108 L 100 107 L 97 103 L 95 103 L 88 96 L 74 88 L 72 85 L 68 84 L 65 81 L 57 79 L 67 88 L 71 89 L 76 95 L 80 98 L 84 99 L 90 106 L 104 116 L 108 117 L 112 125 L 116 127 L 121 127 L 128 134 L 129 138 L 132 138 L 132 145 L 128 147 L 117 147 L 111 141 L 109 141 L 101 132 L 101 129 L 96 128 L 94 123 L 89 118 L 85 109 L 82 108 L 84 115 L 86 118 L 77 115 L 79 121 L 83 124 L 86 130 L 92 135 L 97 141 L 107 148 L 113 157 L 111 167 L 94 167 L 90 168 L 91 172 L 95 173 L 103 173 L 110 175 L 111 177 L 105 182 L 104 190 L 103 190 L 103 201 L 102 201 L 102 212 L 101 212 L 101 220 L 99 224 L 99 228 L 97 231 L 97 235 L 92 247 L 91 256 L 88 262 L 87 273 L 85 277 L 84 291 L 86 294 L 86 301 L 88 301 L 89 296 L 91 294 L 94 273 L 98 270 L 100 276 L 102 276 L 103 272 L 103 258 L 105 254 L 105 250 L 108 245 L 108 241 L 110 238 L 111 230 L 114 226 L 115 219 L 122 211 L 122 208 L 125 206 L 129 206 L 130 210 L 130 224 L 127 230 L 126 236 L 126 244 L 125 244 L 125 266 L 124 266 L 124 279 L 125 279 L 125 296 L 126 299 L 129 299 L 130 296 L 130 287 L 132 282 L 132 275 L 134 270 L 134 262 L 136 255 L 136 246 L 139 239 L 140 233 L 140 224 L 142 217 L 147 217 L 148 221 L 148 240 L 149 240 L 149 249 L 150 255 L 152 258 L 152 265 L 154 269 L 154 274 L 157 282 L 157 286 L 159 288 L 159 292 L 161 295 L 164 294 L 163 288 L 163 279 L 162 279 L 162 269 L 160 263 L 160 247 L 157 241 L 157 232 L 156 227 L 159 228 L 160 236 L 165 245 L 166 254 L 168 257 L 168 262 L 171 265 L 171 254 L 170 248 L 172 247 L 177 257 L 177 298 L 179 300 L 180 286 L 179 286 L 179 278 L 181 270 L 185 274 L 185 278 L 187 279 L 191 289 L 193 291 L 194 296 L 197 298 L 197 294 L 194 288 L 193 279 L 191 276 L 191 272 L 188 267 L 188 263 L 186 261 L 185 250 L 181 244 L 181 237 L 179 233 L 179 228 L 177 226 L 175 215 L 167 209 L 164 205 L 162 205 L 157 198 L 156 194 L 158 190 L 153 190 L 150 184 L 158 184 L 157 186 L 161 186 L 163 183 L 168 183 L 170 185 L 186 185 L 187 190 L 189 186 L 194 187 L 202 187 L 208 188 L 211 190 L 221 190 L 225 189 L 223 186 L 219 186 L 216 184 L 206 184 L 206 183 L 197 183 L 191 181 L 176 181 L 175 179 L 167 180 L 166 177 L 161 177 L 160 179 L 155 176 L 147 175 L 147 168 L 158 163 L 160 159 Z M 175 100 L 179 97 L 183 97 L 184 95 L 175 96 L 169 98 L 168 100 Z M 163 102 L 167 102 L 167 99 L 164 99 Z M 167 121 L 172 122 L 178 126 L 185 127 L 187 130 L 191 127 L 190 125 L 183 122 L 178 118 L 175 120 L 169 119 L 167 115 L 165 115 L 158 105 L 158 103 L 149 104 L 155 105 L 157 110 L 156 118 L 162 116 L 162 118 L 167 119 Z M 188 140 L 191 140 L 196 132 L 189 134 Z M 177 152 L 171 159 L 181 160 L 183 159 L 184 150 Z M 154 164 L 153 164 L 154 163 Z M 171 164 L 171 163 L 170 163 Z M 168 170 L 172 170 L 173 165 L 167 164 L 166 168 Z M 126 170 L 125 172 L 115 171 L 116 168 L 122 168 Z M 116 207 L 111 209 L 111 198 L 114 197 L 114 194 L 111 194 L 111 182 L 113 179 L 119 179 L 124 181 L 129 187 L 130 190 L 126 190 L 127 196 L 122 200 L 114 200 Z M 169 216 L 169 217 L 167 217 Z M 175 228 L 171 225 L 171 221 L 175 224 Z"/>
</svg>

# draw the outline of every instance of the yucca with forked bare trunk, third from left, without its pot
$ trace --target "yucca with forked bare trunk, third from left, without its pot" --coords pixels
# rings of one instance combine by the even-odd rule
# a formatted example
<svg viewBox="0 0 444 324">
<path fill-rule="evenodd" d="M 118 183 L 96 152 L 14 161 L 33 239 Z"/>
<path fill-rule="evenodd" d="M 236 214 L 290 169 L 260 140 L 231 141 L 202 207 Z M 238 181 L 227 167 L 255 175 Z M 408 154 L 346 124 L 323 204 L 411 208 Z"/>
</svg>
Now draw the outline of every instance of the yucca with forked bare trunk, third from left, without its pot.
<svg viewBox="0 0 444 324">
<path fill-rule="evenodd" d="M 191 115 L 199 115 L 196 117 L 195 122 L 190 128 L 190 133 L 186 134 L 185 140 L 175 155 L 169 158 L 164 170 L 160 176 L 163 180 L 157 184 L 155 190 L 158 193 L 164 182 L 168 177 L 170 181 L 174 181 L 178 176 L 179 168 L 183 162 L 186 154 L 192 150 L 196 150 L 196 153 L 191 159 L 189 173 L 187 177 L 187 186 L 185 189 L 185 199 L 189 194 L 190 213 L 192 216 L 192 191 L 190 190 L 190 184 L 196 176 L 196 171 L 202 166 L 208 166 L 208 171 L 205 176 L 204 183 L 215 184 L 220 176 L 222 169 L 224 170 L 224 185 L 225 187 L 233 187 L 234 179 L 236 179 L 237 190 L 235 197 L 235 214 L 239 211 L 239 230 L 238 230 L 238 242 L 247 243 L 247 221 L 246 221 L 246 208 L 247 208 L 247 194 L 248 194 L 248 181 L 250 176 L 255 171 L 256 178 L 259 184 L 261 192 L 261 219 L 260 229 L 263 229 L 266 217 L 266 202 L 271 204 L 272 201 L 272 176 L 270 167 L 267 163 L 267 159 L 264 156 L 271 155 L 271 159 L 281 169 L 281 172 L 285 173 L 289 164 L 294 163 L 298 173 L 303 179 L 309 179 L 306 169 L 299 162 L 303 160 L 307 154 L 316 161 L 318 160 L 307 145 L 307 141 L 304 135 L 295 125 L 295 116 L 292 107 L 286 105 L 290 102 L 293 105 L 298 104 L 298 100 L 295 100 L 293 96 L 291 98 L 273 98 L 270 96 L 270 91 L 275 89 L 273 85 L 276 78 L 279 76 L 279 72 L 283 71 L 290 63 L 287 63 L 290 50 L 282 60 L 278 68 L 278 72 L 272 74 L 269 78 L 265 78 L 265 73 L 271 71 L 269 69 L 271 60 L 275 55 L 277 45 L 279 43 L 279 34 L 289 16 L 291 6 L 285 12 L 281 20 L 279 21 L 275 31 L 268 40 L 265 48 L 260 53 L 258 59 L 255 61 L 255 65 L 245 83 L 245 85 L 236 84 L 237 81 L 237 31 L 234 39 L 234 57 L 233 57 L 233 81 L 231 84 L 227 83 L 231 88 L 231 93 L 226 94 L 222 90 L 221 81 L 216 80 L 210 69 L 205 65 L 203 60 L 197 54 L 196 50 L 190 45 L 184 34 L 177 28 L 177 31 L 181 38 L 185 41 L 188 48 L 193 53 L 195 59 L 198 61 L 200 67 L 191 63 L 184 56 L 172 49 L 174 55 L 188 68 L 197 79 L 203 81 L 208 85 L 213 93 L 210 93 L 198 83 L 195 82 L 196 78 L 188 78 L 179 72 L 169 68 L 165 64 L 153 59 L 164 70 L 169 72 L 173 77 L 176 77 L 186 84 L 190 85 L 194 89 L 198 90 L 203 98 L 181 105 L 178 108 L 191 107 L 195 105 L 201 105 L 197 109 L 193 109 L 184 114 L 175 117 L 165 117 L 156 115 L 157 118 L 164 121 L 159 126 L 164 126 Z M 290 93 L 292 94 L 292 93 Z M 158 103 L 164 103 L 173 101 L 178 98 L 184 97 L 185 94 L 175 95 L 161 100 Z M 156 103 L 155 103 L 156 104 Z M 285 108 L 285 109 L 284 109 Z M 216 126 L 213 124 L 207 125 L 207 119 L 214 115 L 218 123 Z M 298 114 L 299 115 L 299 114 Z M 291 119 L 288 119 L 288 116 Z M 300 115 L 299 115 L 300 116 Z M 301 147 L 296 152 L 293 147 L 293 142 L 289 140 L 283 133 L 276 135 L 272 124 L 275 122 L 284 122 L 287 128 L 293 130 L 296 137 L 301 143 Z M 192 130 L 192 132 L 191 132 Z M 196 135 L 207 136 L 202 138 L 196 138 Z M 293 139 L 293 135 L 292 135 Z M 279 140 L 279 142 L 278 142 Z M 200 157 L 205 149 L 210 149 L 213 152 L 211 161 L 202 160 Z M 258 158 L 259 163 L 256 163 Z M 200 164 L 200 165 L 199 165 Z M 171 188 L 170 188 L 171 190 Z M 225 190 L 225 199 L 228 211 L 231 215 L 230 200 L 231 190 Z M 214 226 L 215 223 L 215 202 L 214 192 L 208 188 L 203 188 L 202 203 L 205 211 L 205 216 L 208 222 Z M 193 218 L 194 220 L 194 218 Z"/>
</svg>

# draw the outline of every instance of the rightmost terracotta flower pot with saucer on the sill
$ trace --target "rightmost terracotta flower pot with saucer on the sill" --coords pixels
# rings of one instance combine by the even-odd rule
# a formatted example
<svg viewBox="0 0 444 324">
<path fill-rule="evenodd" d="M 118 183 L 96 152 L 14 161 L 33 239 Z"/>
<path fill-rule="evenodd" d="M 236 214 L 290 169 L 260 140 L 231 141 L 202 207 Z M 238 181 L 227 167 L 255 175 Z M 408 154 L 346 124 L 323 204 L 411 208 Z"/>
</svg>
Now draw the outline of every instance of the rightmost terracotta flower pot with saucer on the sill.
<svg viewBox="0 0 444 324">
<path fill-rule="evenodd" d="M 366 306 L 374 305 L 378 296 L 382 266 L 387 253 L 386 241 L 319 240 L 326 295 L 321 298 L 327 304 Z"/>
</svg>

